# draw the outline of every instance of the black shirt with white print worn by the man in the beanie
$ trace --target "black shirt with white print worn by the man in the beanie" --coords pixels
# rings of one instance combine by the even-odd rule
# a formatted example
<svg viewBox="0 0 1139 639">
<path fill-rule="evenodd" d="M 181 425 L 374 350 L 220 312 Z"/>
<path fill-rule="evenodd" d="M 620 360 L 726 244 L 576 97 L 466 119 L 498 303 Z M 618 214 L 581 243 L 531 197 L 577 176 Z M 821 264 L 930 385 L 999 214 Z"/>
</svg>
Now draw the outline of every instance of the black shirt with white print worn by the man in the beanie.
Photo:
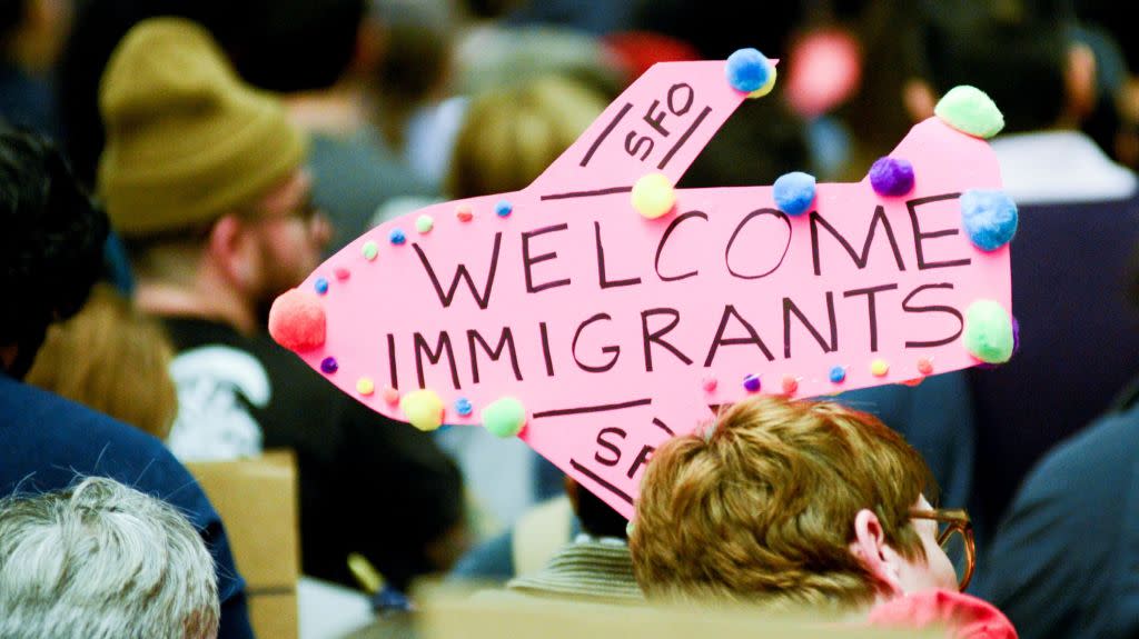
<svg viewBox="0 0 1139 639">
<path fill-rule="evenodd" d="M 347 556 L 360 553 L 402 589 L 435 567 L 425 545 L 460 522 L 462 486 L 429 434 L 344 395 L 268 337 L 204 320 L 165 318 L 165 325 L 178 352 L 179 422 L 202 406 L 229 407 L 252 418 L 265 449 L 296 453 L 305 574 L 357 586 Z M 197 359 L 196 374 L 180 379 L 187 357 Z M 263 382 L 248 381 L 251 364 Z M 244 373 L 230 376 L 238 365 Z"/>
</svg>

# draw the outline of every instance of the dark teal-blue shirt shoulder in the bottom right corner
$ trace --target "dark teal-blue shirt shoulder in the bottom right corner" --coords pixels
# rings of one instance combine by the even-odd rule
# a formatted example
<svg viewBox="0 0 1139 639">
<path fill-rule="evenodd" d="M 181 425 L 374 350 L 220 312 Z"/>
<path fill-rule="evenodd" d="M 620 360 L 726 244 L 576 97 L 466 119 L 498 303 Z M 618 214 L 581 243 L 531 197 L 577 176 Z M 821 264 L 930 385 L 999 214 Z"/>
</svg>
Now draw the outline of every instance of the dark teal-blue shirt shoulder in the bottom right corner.
<svg viewBox="0 0 1139 639">
<path fill-rule="evenodd" d="M 977 565 L 1023 639 L 1139 637 L 1139 406 L 1051 451 Z"/>
</svg>

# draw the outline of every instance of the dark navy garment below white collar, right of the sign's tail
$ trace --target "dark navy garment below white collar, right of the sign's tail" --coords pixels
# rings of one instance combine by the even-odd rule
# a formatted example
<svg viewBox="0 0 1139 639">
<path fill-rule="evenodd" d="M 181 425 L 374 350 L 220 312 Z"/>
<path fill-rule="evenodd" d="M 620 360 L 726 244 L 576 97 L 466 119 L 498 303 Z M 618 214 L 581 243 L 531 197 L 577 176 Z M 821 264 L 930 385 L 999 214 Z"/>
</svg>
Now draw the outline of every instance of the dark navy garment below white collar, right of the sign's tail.
<svg viewBox="0 0 1139 639">
<path fill-rule="evenodd" d="M 969 372 L 975 514 L 992 522 L 1044 453 L 1108 407 L 1139 360 L 1139 314 L 1126 293 L 1139 199 L 1019 209 L 1010 257 L 1021 348 L 1002 366 Z"/>
</svg>

